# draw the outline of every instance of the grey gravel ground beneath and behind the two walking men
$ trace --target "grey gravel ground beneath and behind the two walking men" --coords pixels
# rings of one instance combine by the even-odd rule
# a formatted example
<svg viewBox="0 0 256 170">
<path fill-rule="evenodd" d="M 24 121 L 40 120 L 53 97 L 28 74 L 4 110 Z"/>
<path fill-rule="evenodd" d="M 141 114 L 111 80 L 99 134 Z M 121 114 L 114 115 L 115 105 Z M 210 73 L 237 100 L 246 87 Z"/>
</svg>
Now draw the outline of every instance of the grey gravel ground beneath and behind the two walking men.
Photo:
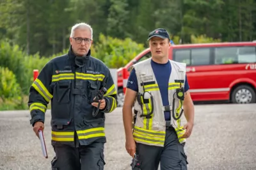
<svg viewBox="0 0 256 170">
<path fill-rule="evenodd" d="M 195 105 L 195 111 L 193 134 L 185 147 L 188 169 L 256 169 L 256 104 Z M 0 169 L 51 169 L 49 113 L 45 122 L 49 158 L 45 159 L 29 125 L 29 112 L 0 112 Z M 107 115 L 106 136 L 105 169 L 131 169 L 121 108 Z"/>
</svg>

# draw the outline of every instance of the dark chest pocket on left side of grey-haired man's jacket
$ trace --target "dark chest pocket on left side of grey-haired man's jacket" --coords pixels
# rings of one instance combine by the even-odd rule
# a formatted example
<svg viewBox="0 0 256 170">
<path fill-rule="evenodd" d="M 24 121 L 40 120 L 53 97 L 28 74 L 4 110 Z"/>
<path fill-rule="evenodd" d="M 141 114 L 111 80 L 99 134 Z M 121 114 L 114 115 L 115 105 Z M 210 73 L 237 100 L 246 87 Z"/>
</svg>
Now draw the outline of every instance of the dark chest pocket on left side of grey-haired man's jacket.
<svg viewBox="0 0 256 170">
<path fill-rule="evenodd" d="M 57 82 L 57 100 L 59 104 L 70 102 L 70 81 Z"/>
</svg>

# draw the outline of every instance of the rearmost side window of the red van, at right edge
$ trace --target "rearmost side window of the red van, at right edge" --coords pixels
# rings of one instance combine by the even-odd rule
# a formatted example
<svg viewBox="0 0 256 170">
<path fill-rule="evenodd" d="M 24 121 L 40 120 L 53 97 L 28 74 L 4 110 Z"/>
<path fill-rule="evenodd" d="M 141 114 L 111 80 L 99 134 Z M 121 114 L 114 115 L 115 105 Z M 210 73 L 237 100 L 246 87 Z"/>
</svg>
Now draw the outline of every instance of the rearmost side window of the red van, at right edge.
<svg viewBox="0 0 256 170">
<path fill-rule="evenodd" d="M 215 49 L 215 63 L 255 63 L 255 47 L 219 47 Z"/>
</svg>

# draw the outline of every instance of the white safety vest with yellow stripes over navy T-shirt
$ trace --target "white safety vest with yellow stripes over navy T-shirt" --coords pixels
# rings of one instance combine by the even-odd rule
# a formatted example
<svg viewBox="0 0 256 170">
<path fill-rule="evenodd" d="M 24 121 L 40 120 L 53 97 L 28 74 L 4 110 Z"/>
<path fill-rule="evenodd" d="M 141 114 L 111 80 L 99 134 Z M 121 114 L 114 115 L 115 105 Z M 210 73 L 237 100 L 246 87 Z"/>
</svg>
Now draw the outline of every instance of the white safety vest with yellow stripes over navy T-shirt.
<svg viewBox="0 0 256 170">
<path fill-rule="evenodd" d="M 172 60 L 169 60 L 172 66 L 172 72 L 169 79 L 168 86 L 168 100 L 170 105 L 170 110 L 173 109 L 173 96 L 175 98 L 175 117 L 178 117 L 176 113 L 180 113 L 181 111 L 181 102 L 177 98 L 176 89 L 180 88 L 180 82 L 175 82 L 175 80 L 184 80 L 186 79 L 186 64 L 178 63 Z M 152 70 L 151 66 L 151 58 L 141 61 L 133 65 L 136 76 L 138 79 L 138 93 L 143 94 L 144 89 L 148 91 L 152 95 L 154 111 L 151 114 L 152 118 L 145 118 L 145 116 L 140 117 L 143 114 L 150 114 L 152 111 L 151 98 L 149 93 L 145 93 L 144 98 L 148 98 L 148 100 L 143 103 L 141 109 L 141 105 L 139 104 L 137 98 L 134 103 L 134 109 L 138 111 L 136 116 L 136 123 L 133 129 L 133 137 L 134 141 L 137 143 L 143 143 L 154 146 L 164 146 L 165 134 L 166 134 L 166 121 L 164 119 L 164 106 L 161 98 L 161 93 L 159 91 L 156 77 Z M 143 86 L 144 84 L 144 89 Z M 181 83 L 184 88 L 185 83 Z M 141 97 L 142 98 L 142 97 Z M 149 103 L 147 102 L 149 101 Z M 142 100 L 143 102 L 143 100 Z M 168 106 L 167 106 L 168 107 Z M 143 112 L 142 112 L 143 111 Z M 182 125 L 180 124 L 180 119 L 175 120 L 172 116 L 172 111 L 170 111 L 171 115 L 171 125 L 175 128 L 177 133 L 177 137 L 180 143 L 186 142 L 185 138 L 180 138 L 185 132 Z"/>
</svg>

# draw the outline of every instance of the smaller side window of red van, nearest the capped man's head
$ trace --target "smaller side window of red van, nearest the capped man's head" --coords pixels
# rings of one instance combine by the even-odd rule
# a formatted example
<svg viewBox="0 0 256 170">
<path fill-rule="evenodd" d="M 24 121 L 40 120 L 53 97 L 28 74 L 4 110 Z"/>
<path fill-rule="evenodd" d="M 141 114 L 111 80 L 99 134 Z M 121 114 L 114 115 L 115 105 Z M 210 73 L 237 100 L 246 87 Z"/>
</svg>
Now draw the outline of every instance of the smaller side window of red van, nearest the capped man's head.
<svg viewBox="0 0 256 170">
<path fill-rule="evenodd" d="M 210 65 L 210 49 L 191 49 L 191 65 Z"/>
</svg>

